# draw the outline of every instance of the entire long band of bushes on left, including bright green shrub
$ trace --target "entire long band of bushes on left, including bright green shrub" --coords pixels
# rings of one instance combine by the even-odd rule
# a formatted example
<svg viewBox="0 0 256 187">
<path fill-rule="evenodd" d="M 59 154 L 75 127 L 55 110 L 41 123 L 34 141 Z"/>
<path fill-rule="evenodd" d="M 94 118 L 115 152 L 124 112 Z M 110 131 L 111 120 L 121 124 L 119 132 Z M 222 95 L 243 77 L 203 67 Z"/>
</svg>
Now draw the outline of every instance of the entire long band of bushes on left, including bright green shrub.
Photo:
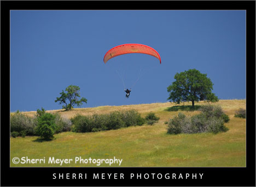
<svg viewBox="0 0 256 187">
<path fill-rule="evenodd" d="M 37 109 L 33 117 L 19 111 L 10 116 L 10 131 L 12 137 L 39 136 L 50 140 L 56 133 L 65 131 L 97 132 L 115 130 L 122 127 L 141 126 L 145 122 L 152 125 L 159 120 L 153 112 L 146 119 L 137 110 L 114 111 L 109 114 L 94 114 L 90 116 L 75 115 L 71 120 L 62 118 L 58 113 L 46 113 L 42 108 Z"/>
</svg>

